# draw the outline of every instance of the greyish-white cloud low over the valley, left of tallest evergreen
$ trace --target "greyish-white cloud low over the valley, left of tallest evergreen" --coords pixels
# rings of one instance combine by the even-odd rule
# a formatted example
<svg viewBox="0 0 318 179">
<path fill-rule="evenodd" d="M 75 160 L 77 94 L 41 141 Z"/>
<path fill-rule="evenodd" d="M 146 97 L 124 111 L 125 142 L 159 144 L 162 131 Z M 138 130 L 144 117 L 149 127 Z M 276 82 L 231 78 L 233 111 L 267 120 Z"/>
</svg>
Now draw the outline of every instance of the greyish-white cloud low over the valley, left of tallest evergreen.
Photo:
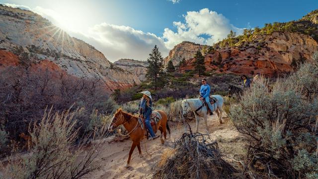
<svg viewBox="0 0 318 179">
<path fill-rule="evenodd" d="M 123 25 L 101 23 L 92 27 L 85 34 L 72 32 L 71 35 L 94 46 L 110 61 L 120 58 L 147 60 L 155 45 L 159 47 L 162 57 L 168 54 L 163 40 L 155 34 Z"/>
</svg>

